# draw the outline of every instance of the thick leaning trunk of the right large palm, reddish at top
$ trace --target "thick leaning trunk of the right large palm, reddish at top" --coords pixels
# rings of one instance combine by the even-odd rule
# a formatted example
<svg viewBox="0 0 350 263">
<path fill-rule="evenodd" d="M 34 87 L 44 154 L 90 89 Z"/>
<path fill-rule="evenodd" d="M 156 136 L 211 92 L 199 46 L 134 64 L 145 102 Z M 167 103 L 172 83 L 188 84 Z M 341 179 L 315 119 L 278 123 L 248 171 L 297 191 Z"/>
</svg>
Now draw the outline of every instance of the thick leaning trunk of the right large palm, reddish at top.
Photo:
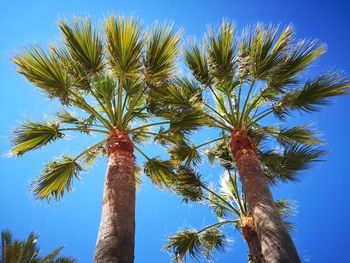
<svg viewBox="0 0 350 263">
<path fill-rule="evenodd" d="M 268 263 L 300 262 L 297 250 L 273 201 L 252 139 L 234 130 L 230 149 L 235 158 L 250 213 Z"/>
</svg>

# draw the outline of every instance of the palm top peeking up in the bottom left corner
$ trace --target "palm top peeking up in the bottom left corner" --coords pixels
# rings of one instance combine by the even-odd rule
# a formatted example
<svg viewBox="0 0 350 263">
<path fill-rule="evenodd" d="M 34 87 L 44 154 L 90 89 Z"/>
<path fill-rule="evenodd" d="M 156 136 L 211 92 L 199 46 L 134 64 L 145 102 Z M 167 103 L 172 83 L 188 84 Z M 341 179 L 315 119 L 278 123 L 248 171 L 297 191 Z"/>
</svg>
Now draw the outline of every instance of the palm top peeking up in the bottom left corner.
<svg viewBox="0 0 350 263">
<path fill-rule="evenodd" d="M 45 257 L 39 257 L 40 249 L 37 244 L 39 236 L 30 233 L 27 239 L 13 240 L 8 230 L 1 231 L 0 263 L 74 263 L 71 257 L 60 256 L 63 246 L 56 248 Z"/>
</svg>

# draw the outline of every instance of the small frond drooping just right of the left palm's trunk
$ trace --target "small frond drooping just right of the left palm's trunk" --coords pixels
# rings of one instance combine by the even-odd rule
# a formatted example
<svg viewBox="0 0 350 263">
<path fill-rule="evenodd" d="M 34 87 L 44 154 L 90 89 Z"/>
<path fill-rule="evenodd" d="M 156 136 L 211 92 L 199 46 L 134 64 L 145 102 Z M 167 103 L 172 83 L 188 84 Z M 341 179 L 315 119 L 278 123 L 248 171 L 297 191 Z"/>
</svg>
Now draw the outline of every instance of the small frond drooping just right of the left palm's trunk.
<svg viewBox="0 0 350 263">
<path fill-rule="evenodd" d="M 159 188 L 170 188 L 175 179 L 174 163 L 169 160 L 152 158 L 146 161 L 144 173 Z"/>
</svg>

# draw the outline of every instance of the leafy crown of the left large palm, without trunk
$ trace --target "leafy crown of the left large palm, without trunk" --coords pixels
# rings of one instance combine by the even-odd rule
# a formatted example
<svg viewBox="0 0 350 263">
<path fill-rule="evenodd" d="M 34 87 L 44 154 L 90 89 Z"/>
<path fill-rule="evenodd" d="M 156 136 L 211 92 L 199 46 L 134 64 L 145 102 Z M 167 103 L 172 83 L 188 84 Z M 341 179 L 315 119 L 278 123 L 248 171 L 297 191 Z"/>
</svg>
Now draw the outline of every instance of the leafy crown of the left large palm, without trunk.
<svg viewBox="0 0 350 263">
<path fill-rule="evenodd" d="M 59 199 L 69 191 L 73 179 L 105 155 L 106 139 L 114 129 L 127 131 L 147 160 L 144 172 L 159 187 L 167 187 L 174 176 L 173 163 L 148 157 L 143 143 L 159 134 L 152 132 L 153 126 L 168 134 L 184 129 L 189 133 L 202 125 L 195 107 L 154 114 L 154 96 L 174 82 L 181 31 L 171 24 L 156 24 L 145 31 L 137 18 L 124 16 L 107 18 L 104 35 L 85 18 L 75 18 L 71 24 L 61 21 L 59 28 L 61 42 L 48 51 L 32 46 L 12 58 L 18 72 L 44 95 L 58 99 L 62 110 L 49 120 L 21 123 L 14 130 L 11 153 L 21 156 L 68 132 L 99 133 L 105 138 L 77 156 L 48 163 L 33 182 L 36 197 Z"/>
</svg>

